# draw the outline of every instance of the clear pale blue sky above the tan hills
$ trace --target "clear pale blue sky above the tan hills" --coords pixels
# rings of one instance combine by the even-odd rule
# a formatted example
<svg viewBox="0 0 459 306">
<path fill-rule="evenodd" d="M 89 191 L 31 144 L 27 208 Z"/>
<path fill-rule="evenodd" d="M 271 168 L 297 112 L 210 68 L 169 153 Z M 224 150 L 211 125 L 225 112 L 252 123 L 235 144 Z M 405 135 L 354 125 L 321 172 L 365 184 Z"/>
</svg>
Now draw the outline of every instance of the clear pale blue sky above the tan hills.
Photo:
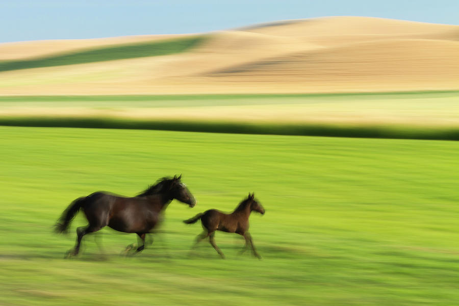
<svg viewBox="0 0 459 306">
<path fill-rule="evenodd" d="M 459 0 L 0 0 L 0 42 L 201 33 L 343 15 L 459 24 Z"/>
</svg>

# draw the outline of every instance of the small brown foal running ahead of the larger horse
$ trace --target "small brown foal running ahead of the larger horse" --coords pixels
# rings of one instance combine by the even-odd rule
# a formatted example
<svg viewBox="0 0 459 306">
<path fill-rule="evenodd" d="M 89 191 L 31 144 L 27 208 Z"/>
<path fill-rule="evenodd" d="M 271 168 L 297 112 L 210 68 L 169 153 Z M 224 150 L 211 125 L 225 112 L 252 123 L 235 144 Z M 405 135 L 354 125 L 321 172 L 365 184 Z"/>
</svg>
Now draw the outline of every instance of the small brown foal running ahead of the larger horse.
<svg viewBox="0 0 459 306">
<path fill-rule="evenodd" d="M 249 193 L 248 197 L 244 199 L 241 203 L 239 203 L 239 206 L 231 214 L 225 214 L 218 210 L 211 209 L 206 212 L 197 214 L 191 219 L 184 220 L 183 222 L 191 224 L 201 219 L 204 231 L 196 237 L 196 241 L 193 245 L 193 248 L 196 247 L 199 241 L 209 237 L 210 244 L 214 247 L 214 249 L 220 254 L 222 258 L 225 258 L 222 251 L 215 244 L 214 241 L 215 231 L 223 231 L 227 233 L 236 233 L 244 236 L 245 246 L 242 250 L 242 253 L 245 252 L 247 246 L 250 245 L 252 247 L 253 255 L 258 258 L 261 258 L 260 254 L 253 246 L 252 237 L 250 237 L 250 234 L 248 233 L 248 217 L 250 215 L 250 212 L 252 211 L 259 212 L 262 215 L 265 214 L 265 209 L 257 200 L 254 199 L 254 194 Z"/>
</svg>

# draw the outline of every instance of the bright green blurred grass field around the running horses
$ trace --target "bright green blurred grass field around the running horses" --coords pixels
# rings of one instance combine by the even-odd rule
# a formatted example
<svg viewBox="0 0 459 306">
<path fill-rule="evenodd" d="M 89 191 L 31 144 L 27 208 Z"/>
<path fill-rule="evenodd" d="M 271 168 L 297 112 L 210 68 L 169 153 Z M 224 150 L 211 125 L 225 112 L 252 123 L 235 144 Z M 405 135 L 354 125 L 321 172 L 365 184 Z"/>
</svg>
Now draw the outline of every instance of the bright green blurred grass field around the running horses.
<svg viewBox="0 0 459 306">
<path fill-rule="evenodd" d="M 2 305 L 453 305 L 459 300 L 459 143 L 451 141 L 0 127 Z M 52 233 L 76 197 L 135 195 L 183 174 L 198 203 L 172 202 L 162 234 Z M 226 260 L 181 221 L 231 211 L 248 192 L 263 257 L 217 233 Z M 102 240 L 101 256 L 95 238 Z"/>
</svg>

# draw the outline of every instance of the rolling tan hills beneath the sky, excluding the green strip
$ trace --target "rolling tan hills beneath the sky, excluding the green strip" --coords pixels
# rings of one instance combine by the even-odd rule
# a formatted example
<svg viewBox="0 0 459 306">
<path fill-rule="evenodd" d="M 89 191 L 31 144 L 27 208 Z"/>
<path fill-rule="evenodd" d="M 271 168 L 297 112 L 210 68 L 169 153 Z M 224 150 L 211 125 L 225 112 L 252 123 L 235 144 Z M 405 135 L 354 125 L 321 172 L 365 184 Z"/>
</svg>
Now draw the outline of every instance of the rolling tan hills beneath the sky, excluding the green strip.
<svg viewBox="0 0 459 306">
<path fill-rule="evenodd" d="M 164 38 L 0 44 L 0 59 Z M 182 54 L 4 71 L 0 84 L 0 94 L 459 89 L 459 26 L 368 17 L 274 22 L 210 33 Z"/>
</svg>

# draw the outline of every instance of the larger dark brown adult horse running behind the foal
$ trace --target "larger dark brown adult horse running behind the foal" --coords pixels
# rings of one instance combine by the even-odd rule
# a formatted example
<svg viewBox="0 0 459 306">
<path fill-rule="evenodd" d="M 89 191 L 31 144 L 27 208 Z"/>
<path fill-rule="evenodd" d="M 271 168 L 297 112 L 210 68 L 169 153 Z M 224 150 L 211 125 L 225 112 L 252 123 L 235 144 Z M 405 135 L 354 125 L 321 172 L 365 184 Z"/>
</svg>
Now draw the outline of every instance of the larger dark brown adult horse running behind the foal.
<svg viewBox="0 0 459 306">
<path fill-rule="evenodd" d="M 136 252 L 143 250 L 145 235 L 158 224 L 161 211 L 170 201 L 177 199 L 190 207 L 195 206 L 196 200 L 180 181 L 181 177 L 182 175 L 174 176 L 173 179 L 164 177 L 135 197 L 95 192 L 75 199 L 56 224 L 56 232 L 66 232 L 71 220 L 81 209 L 89 224 L 77 228 L 77 244 L 68 255 L 78 254 L 83 236 L 97 232 L 107 225 L 119 232 L 136 233 L 142 241 Z"/>
</svg>

